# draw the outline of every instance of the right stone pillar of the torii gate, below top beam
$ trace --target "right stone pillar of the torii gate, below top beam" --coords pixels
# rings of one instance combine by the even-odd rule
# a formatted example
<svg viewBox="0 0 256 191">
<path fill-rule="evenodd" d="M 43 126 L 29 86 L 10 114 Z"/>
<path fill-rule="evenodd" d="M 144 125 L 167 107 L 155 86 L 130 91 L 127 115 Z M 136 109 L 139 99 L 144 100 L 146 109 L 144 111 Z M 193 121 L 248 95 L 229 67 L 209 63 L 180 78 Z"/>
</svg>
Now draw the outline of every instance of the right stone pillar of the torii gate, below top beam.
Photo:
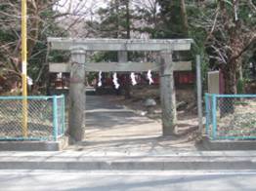
<svg viewBox="0 0 256 191">
<path fill-rule="evenodd" d="M 177 123 L 172 52 L 161 52 L 160 96 L 163 135 L 175 134 Z"/>
</svg>

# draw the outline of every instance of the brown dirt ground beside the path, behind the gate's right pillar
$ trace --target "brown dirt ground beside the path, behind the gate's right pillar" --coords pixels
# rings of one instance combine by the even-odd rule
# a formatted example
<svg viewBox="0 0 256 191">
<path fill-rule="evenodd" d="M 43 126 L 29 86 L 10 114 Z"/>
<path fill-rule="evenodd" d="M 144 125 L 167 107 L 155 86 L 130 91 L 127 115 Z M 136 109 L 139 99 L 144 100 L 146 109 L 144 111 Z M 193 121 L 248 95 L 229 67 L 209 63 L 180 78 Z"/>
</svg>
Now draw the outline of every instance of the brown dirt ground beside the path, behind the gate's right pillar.
<svg viewBox="0 0 256 191">
<path fill-rule="evenodd" d="M 161 105 L 159 88 L 157 86 L 136 86 L 132 87 L 131 98 L 125 99 L 124 96 L 112 96 L 111 101 L 135 110 L 140 115 L 145 115 L 150 119 L 161 122 Z M 156 105 L 153 112 L 149 113 L 145 106 L 145 101 L 153 98 Z M 192 133 L 198 128 L 196 94 L 192 87 L 176 90 L 176 102 L 178 113 L 177 134 Z"/>
</svg>

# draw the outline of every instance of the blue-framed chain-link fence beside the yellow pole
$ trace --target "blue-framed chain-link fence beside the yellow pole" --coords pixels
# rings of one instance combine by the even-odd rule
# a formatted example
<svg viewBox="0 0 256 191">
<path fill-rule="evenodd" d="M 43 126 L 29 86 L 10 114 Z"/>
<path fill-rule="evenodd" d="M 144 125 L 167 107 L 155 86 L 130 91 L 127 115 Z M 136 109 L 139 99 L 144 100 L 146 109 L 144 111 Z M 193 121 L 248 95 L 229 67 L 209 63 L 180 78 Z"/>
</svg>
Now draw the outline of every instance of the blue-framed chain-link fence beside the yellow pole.
<svg viewBox="0 0 256 191">
<path fill-rule="evenodd" d="M 64 135 L 64 96 L 27 96 L 27 135 L 23 96 L 0 96 L 0 140 L 58 140 Z"/>
</svg>

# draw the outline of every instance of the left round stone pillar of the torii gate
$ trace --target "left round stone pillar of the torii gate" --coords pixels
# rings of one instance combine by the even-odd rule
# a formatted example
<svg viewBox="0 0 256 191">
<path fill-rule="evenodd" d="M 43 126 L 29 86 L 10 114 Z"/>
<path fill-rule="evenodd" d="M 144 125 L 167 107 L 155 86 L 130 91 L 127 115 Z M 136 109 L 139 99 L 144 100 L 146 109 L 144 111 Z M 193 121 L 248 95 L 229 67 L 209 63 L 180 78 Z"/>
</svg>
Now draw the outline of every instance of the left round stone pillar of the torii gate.
<svg viewBox="0 0 256 191">
<path fill-rule="evenodd" d="M 76 141 L 85 135 L 85 56 L 83 49 L 71 50 L 68 133 Z"/>
</svg>

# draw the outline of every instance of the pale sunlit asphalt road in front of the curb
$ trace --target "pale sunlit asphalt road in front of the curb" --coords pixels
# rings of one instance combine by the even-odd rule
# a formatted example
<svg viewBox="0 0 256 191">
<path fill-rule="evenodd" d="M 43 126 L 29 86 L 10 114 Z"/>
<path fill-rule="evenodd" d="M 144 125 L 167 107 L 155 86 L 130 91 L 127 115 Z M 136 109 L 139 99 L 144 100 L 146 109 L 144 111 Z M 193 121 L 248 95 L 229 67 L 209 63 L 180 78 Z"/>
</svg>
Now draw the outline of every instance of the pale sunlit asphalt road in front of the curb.
<svg viewBox="0 0 256 191">
<path fill-rule="evenodd" d="M 256 172 L 1 171 L 0 190 L 256 190 Z"/>
</svg>

